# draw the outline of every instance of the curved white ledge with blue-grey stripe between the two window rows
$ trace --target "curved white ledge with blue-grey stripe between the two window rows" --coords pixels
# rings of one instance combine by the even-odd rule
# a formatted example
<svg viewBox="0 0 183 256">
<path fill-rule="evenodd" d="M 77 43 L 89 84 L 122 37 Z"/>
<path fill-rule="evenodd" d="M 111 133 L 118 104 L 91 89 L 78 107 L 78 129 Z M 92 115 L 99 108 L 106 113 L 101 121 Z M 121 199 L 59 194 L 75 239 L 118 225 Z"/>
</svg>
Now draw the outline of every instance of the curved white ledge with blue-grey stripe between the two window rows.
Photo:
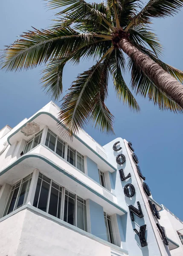
<svg viewBox="0 0 183 256">
<path fill-rule="evenodd" d="M 40 151 L 42 154 L 37 153 Z M 88 177 L 80 174 L 73 167 L 69 165 L 69 167 L 66 166 L 67 163 L 64 163 L 63 160 L 59 159 L 58 162 L 58 157 L 55 155 L 55 158 L 52 157 L 53 160 L 55 160 L 55 162 L 53 162 L 45 157 L 45 154 L 46 156 L 48 154 L 50 156 L 51 153 L 46 147 L 38 145 L 30 153 L 23 155 L 14 163 L 3 169 L 2 172 L 0 172 L 0 184 L 3 185 L 3 183 L 8 183 L 13 185 L 22 177 L 25 177 L 33 172 L 34 169 L 39 169 L 40 172 L 42 171 L 42 173 L 47 177 L 50 177 L 50 174 L 52 174 L 53 180 L 58 182 L 61 186 L 70 189 L 70 191 L 76 192 L 78 196 L 82 197 L 83 199 L 91 199 L 97 204 L 100 204 L 110 215 L 123 215 L 127 213 L 125 209 L 120 207 L 118 204 L 106 198 L 102 194 L 102 188 L 96 183 L 93 183 L 93 181 L 88 179 Z M 60 166 L 64 166 L 64 168 L 69 171 L 61 168 Z"/>
</svg>

